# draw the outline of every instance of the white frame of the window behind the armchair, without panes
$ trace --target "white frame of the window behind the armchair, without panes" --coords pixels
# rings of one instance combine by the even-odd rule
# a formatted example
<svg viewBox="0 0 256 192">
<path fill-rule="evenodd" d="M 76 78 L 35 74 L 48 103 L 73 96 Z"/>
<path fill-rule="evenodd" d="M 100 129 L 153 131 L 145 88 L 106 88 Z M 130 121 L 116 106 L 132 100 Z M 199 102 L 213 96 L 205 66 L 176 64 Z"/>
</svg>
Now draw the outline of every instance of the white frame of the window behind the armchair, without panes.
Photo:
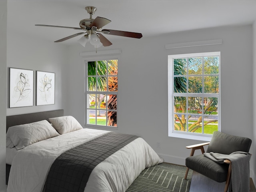
<svg viewBox="0 0 256 192">
<path fill-rule="evenodd" d="M 176 96 L 173 92 L 173 61 L 178 58 L 193 58 L 193 57 L 206 57 L 206 56 L 219 56 L 219 93 L 212 96 L 218 98 L 218 131 L 220 131 L 220 52 L 206 52 L 206 53 L 193 53 L 193 54 L 177 54 L 168 55 L 168 136 L 177 138 L 186 138 L 193 140 L 210 141 L 212 135 L 210 134 L 200 134 L 192 132 L 182 132 L 174 130 L 174 101 L 173 97 Z M 188 94 L 184 93 L 188 96 Z M 192 95 L 192 94 L 190 94 Z M 205 97 L 204 93 L 194 93 L 193 96 Z M 211 94 L 207 94 L 207 97 L 211 97 Z"/>
</svg>

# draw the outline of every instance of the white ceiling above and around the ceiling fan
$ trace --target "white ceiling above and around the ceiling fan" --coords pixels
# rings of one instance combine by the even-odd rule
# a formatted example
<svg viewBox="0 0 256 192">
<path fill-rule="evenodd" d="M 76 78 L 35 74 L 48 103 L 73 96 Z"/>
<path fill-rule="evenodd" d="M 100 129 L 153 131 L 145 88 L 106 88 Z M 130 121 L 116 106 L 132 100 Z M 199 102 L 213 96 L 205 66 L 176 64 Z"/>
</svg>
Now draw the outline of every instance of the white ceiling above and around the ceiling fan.
<svg viewBox="0 0 256 192">
<path fill-rule="evenodd" d="M 143 37 L 256 20 L 256 0 L 8 0 L 8 31 L 54 42 L 81 31 L 34 25 L 79 27 L 80 20 L 90 18 L 86 6 L 97 8 L 92 18 L 112 21 L 103 28 L 139 32 Z M 104 36 L 110 41 L 127 38 Z M 61 43 L 74 44 L 80 37 Z"/>
</svg>

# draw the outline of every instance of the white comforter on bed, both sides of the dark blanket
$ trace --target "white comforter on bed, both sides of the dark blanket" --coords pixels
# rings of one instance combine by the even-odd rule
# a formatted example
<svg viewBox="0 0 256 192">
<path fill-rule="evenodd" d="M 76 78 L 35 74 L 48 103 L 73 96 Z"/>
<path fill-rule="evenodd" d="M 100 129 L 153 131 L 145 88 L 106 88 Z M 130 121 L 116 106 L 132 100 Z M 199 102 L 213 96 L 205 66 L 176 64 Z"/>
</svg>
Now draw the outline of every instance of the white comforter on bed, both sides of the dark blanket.
<svg viewBox="0 0 256 192">
<path fill-rule="evenodd" d="M 20 150 L 12 161 L 7 192 L 42 192 L 50 166 L 60 154 L 107 132 L 81 129 Z M 94 168 L 84 192 L 124 192 L 142 170 L 161 162 L 163 159 L 137 138 Z"/>
</svg>

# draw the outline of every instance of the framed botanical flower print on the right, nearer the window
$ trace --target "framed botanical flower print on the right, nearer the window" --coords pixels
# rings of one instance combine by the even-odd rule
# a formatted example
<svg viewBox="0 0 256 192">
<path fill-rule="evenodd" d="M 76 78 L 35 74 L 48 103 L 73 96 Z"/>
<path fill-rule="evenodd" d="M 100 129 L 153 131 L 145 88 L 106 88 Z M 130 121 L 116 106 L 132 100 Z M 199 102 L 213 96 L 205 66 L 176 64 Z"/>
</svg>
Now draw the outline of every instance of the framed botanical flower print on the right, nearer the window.
<svg viewBox="0 0 256 192">
<path fill-rule="evenodd" d="M 55 104 L 55 73 L 36 71 L 36 105 Z"/>
</svg>

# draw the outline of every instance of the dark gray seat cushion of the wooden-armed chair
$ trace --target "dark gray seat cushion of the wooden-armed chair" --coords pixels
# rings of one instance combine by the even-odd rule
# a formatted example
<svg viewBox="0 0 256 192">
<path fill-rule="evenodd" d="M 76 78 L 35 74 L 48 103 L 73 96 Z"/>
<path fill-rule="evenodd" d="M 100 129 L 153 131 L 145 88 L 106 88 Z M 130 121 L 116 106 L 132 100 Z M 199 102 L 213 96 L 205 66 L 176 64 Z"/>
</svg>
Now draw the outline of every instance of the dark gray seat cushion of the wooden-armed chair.
<svg viewBox="0 0 256 192">
<path fill-rule="evenodd" d="M 229 164 L 216 163 L 202 154 L 186 158 L 186 166 L 216 182 L 224 182 Z"/>
</svg>

